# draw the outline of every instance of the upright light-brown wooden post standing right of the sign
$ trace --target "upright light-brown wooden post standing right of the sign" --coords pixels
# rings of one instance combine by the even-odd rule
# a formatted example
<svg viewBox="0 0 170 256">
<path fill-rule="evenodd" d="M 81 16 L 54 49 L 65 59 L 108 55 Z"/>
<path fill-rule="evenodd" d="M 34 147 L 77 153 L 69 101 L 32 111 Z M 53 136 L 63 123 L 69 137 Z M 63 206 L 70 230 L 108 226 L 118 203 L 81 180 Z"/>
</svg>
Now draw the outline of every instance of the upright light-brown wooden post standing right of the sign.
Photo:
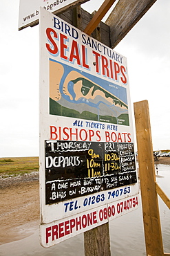
<svg viewBox="0 0 170 256">
<path fill-rule="evenodd" d="M 162 256 L 164 252 L 147 100 L 134 103 L 134 113 L 146 250 L 147 255 Z"/>
</svg>

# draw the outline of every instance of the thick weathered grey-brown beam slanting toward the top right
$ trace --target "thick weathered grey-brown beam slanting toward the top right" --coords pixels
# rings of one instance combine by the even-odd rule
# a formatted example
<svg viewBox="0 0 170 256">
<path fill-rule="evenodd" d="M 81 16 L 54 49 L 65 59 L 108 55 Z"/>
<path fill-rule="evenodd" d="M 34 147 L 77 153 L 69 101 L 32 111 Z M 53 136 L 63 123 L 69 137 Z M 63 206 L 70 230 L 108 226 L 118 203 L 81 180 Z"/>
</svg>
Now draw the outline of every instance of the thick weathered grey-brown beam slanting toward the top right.
<svg viewBox="0 0 170 256">
<path fill-rule="evenodd" d="M 111 48 L 127 35 L 156 0 L 119 0 L 105 23 L 110 28 Z"/>
</svg>

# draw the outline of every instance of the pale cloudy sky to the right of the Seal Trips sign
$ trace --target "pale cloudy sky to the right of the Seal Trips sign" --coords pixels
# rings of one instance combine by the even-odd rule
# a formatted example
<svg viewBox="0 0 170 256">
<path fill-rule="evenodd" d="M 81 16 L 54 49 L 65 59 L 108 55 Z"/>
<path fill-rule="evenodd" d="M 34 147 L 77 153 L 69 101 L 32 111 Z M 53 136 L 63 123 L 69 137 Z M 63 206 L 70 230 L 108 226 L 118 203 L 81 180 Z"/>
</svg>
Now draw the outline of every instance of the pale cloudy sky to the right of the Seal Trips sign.
<svg viewBox="0 0 170 256">
<path fill-rule="evenodd" d="M 170 2 L 157 1 L 115 48 L 127 57 L 131 101 L 149 101 L 153 149 L 170 149 Z"/>
</svg>

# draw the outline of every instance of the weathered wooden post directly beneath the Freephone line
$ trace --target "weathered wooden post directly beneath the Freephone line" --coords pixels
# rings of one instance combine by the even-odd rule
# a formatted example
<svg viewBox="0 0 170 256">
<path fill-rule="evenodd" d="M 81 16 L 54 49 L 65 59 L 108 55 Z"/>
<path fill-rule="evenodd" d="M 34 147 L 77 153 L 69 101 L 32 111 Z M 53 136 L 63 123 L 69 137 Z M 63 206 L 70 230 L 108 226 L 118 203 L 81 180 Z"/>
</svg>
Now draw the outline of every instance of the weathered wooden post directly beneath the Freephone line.
<svg viewBox="0 0 170 256">
<path fill-rule="evenodd" d="M 84 232 L 85 256 L 110 256 L 109 223 Z"/>
</svg>

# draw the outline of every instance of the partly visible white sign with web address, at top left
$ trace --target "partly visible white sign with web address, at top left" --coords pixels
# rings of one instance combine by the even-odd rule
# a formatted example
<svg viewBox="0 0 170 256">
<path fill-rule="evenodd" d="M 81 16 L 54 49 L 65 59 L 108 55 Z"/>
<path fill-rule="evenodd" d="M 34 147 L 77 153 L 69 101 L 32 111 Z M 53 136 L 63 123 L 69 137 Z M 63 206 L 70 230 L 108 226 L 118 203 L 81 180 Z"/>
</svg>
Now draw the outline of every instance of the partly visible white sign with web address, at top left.
<svg viewBox="0 0 170 256">
<path fill-rule="evenodd" d="M 39 23 L 39 8 L 55 14 L 89 0 L 20 0 L 19 30 Z"/>
</svg>

